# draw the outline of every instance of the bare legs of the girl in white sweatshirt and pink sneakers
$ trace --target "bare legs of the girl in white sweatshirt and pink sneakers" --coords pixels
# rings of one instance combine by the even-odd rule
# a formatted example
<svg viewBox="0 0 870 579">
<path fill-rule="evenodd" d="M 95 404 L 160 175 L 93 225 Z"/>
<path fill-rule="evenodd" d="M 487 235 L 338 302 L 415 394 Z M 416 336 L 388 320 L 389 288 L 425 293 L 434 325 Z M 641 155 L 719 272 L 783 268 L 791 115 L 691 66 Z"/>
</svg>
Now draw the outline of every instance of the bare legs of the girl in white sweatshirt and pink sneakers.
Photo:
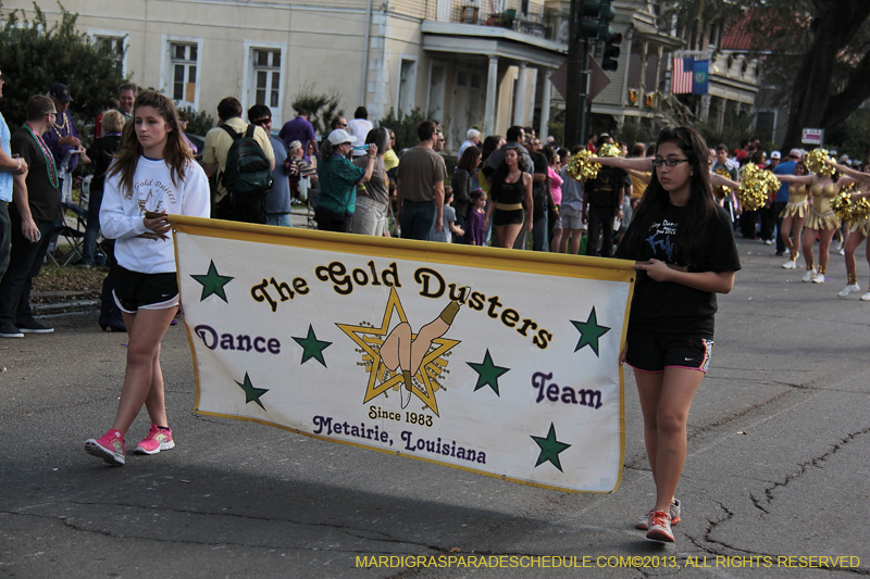
<svg viewBox="0 0 870 579">
<path fill-rule="evenodd" d="M 154 424 L 169 426 L 165 424 L 166 407 L 159 356 L 160 341 L 176 312 L 176 307 L 167 307 L 124 314 L 124 324 L 129 332 L 127 368 L 124 374 L 124 386 L 121 388 L 117 415 L 112 425 L 112 429 L 120 430 L 122 436 L 127 433 L 146 400 L 149 400 L 148 414 Z"/>
</svg>

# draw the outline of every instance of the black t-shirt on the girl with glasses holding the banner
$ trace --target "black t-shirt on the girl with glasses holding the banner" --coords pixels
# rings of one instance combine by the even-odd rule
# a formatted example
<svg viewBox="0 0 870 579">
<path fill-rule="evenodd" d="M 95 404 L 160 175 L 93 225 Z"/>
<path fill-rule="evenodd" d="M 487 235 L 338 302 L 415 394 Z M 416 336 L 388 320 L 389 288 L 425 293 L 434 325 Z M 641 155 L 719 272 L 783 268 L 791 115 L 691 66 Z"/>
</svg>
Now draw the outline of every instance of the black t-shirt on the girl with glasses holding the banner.
<svg viewBox="0 0 870 579">
<path fill-rule="evenodd" d="M 731 219 L 724 209 L 717 213 L 704 228 L 704 262 L 688 266 L 688 272 L 736 272 L 741 268 L 737 247 L 731 229 Z M 639 255 L 629 255 L 620 243 L 617 257 L 623 260 L 660 260 L 678 267 L 686 266 L 674 257 L 680 224 L 685 221 L 687 207 L 668 204 L 644 235 Z M 632 221 L 629 229 L 637 224 Z M 627 237 L 629 231 L 626 231 Z M 655 281 L 646 272 L 637 272 L 629 325 L 632 329 L 667 335 L 693 335 L 712 338 L 717 311 L 716 293 L 701 291 L 672 281 Z"/>
</svg>

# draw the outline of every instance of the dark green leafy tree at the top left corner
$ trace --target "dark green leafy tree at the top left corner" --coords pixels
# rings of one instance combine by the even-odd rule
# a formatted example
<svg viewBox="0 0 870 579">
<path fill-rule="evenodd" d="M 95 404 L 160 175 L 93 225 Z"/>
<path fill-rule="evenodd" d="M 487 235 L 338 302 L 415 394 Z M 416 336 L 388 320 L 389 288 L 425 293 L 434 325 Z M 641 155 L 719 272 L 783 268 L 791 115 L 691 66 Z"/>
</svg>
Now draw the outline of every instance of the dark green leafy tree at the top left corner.
<svg viewBox="0 0 870 579">
<path fill-rule="evenodd" d="M 0 3 L 2 9 L 2 3 Z M 26 119 L 25 105 L 33 95 L 45 95 L 54 83 L 70 87 L 75 102 L 70 112 L 83 137 L 89 138 L 91 125 L 117 87 L 126 81 L 121 61 L 111 47 L 91 43 L 76 32 L 77 14 L 61 5 L 61 18 L 49 26 L 45 14 L 34 3 L 33 20 L 24 12 L 5 14 L 0 29 L 0 66 L 7 78 L 0 106 L 12 130 Z"/>
</svg>

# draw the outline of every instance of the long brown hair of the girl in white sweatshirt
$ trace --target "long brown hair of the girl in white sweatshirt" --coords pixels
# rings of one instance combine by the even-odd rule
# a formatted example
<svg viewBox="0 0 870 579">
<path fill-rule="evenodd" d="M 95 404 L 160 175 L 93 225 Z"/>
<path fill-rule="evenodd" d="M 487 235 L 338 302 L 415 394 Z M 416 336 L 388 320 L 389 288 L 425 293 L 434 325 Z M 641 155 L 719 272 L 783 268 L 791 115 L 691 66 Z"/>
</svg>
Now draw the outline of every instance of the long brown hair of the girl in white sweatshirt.
<svg viewBox="0 0 870 579">
<path fill-rule="evenodd" d="M 146 90 L 136 97 L 136 102 L 133 104 L 134 117 L 136 111 L 141 106 L 154 109 L 172 129 L 166 135 L 163 161 L 170 167 L 172 184 L 177 187 L 178 180 L 184 180 L 185 178 L 187 165 L 194 161 L 194 153 L 182 135 L 175 103 L 159 92 Z M 117 150 L 117 154 L 115 154 L 115 162 L 112 163 L 107 174 L 107 178 L 121 174 L 119 186 L 122 192 L 125 191 L 124 194 L 133 193 L 133 175 L 136 173 L 136 166 L 139 164 L 139 156 L 142 151 L 142 146 L 136 136 L 136 122 L 127 123 L 121 134 L 121 147 Z"/>
</svg>

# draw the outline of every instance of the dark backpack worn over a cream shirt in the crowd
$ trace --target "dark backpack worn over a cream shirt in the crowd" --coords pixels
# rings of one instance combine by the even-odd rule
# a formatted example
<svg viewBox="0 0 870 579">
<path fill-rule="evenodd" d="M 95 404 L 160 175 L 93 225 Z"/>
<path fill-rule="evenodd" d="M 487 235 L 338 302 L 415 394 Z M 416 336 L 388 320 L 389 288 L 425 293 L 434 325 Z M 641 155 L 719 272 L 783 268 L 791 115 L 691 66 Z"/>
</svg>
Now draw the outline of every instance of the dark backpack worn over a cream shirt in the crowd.
<svg viewBox="0 0 870 579">
<path fill-rule="evenodd" d="M 272 190 L 273 177 L 269 159 L 260 143 L 253 139 L 254 126 L 248 125 L 244 135 L 226 125 L 221 128 L 233 137 L 222 176 L 226 191 L 236 205 L 262 204 Z"/>
</svg>

